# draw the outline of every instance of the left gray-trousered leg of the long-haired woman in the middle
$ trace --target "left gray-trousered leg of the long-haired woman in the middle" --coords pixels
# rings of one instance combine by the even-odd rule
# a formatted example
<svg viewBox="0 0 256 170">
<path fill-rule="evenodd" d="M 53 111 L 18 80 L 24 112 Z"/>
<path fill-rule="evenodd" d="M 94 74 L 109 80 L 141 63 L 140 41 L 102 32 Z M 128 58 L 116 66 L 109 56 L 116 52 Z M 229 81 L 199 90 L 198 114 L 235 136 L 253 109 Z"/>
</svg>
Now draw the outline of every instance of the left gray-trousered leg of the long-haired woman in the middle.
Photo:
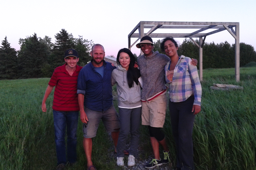
<svg viewBox="0 0 256 170">
<path fill-rule="evenodd" d="M 130 132 L 131 111 L 129 108 L 119 108 L 120 133 L 116 146 L 117 157 L 124 157 L 125 143 Z"/>
</svg>

